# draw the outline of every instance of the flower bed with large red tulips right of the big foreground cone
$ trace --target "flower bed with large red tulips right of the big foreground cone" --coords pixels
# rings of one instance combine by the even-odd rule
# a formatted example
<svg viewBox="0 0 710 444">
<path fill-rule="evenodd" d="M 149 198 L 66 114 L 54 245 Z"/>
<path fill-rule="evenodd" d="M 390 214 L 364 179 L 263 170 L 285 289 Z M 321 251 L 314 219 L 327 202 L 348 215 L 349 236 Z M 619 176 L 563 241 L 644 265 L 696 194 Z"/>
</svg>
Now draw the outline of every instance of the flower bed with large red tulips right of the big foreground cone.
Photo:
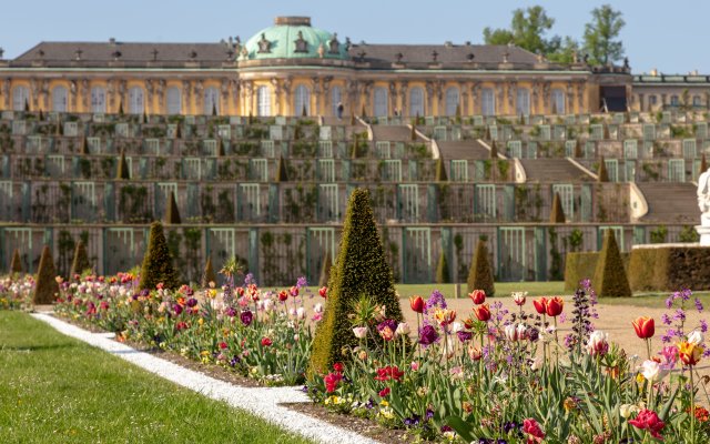
<svg viewBox="0 0 710 444">
<path fill-rule="evenodd" d="M 588 282 L 571 310 L 559 297 L 514 294 L 516 309 L 470 294 L 464 316 L 444 296 L 413 297 L 417 326 L 387 320 L 386 307 L 353 307 L 359 345 L 307 383 L 326 408 L 408 428 L 423 438 L 465 443 L 708 442 L 707 400 L 696 366 L 704 354 L 704 323 L 684 325 L 689 291 L 672 294 L 667 344 L 650 354 L 655 321 L 635 322 L 645 356 L 628 356 L 595 331 L 596 297 Z M 569 305 L 569 302 L 568 302 Z M 696 306 L 702 310 L 697 301 Z M 567 309 L 567 313 L 566 310 Z M 368 316 L 362 316 L 368 314 Z M 567 314 L 571 333 L 557 330 Z M 457 321 L 458 319 L 458 321 Z M 631 329 L 631 325 L 628 325 Z M 408 332 L 418 332 L 415 343 Z M 383 344 L 384 340 L 384 345 Z M 692 387 L 692 389 L 691 389 Z"/>
</svg>

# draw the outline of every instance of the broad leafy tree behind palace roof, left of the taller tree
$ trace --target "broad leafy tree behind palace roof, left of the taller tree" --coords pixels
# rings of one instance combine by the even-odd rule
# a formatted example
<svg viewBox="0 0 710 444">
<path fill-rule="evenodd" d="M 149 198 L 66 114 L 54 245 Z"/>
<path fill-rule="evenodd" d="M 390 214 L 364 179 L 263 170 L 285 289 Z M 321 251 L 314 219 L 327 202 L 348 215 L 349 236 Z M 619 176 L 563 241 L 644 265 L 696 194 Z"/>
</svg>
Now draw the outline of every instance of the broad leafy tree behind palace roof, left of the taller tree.
<svg viewBox="0 0 710 444">
<path fill-rule="evenodd" d="M 559 37 L 546 39 L 545 33 L 555 24 L 555 19 L 547 16 L 540 6 L 513 11 L 510 29 L 484 29 L 486 44 L 513 43 L 530 52 L 548 54 L 559 48 Z"/>
</svg>

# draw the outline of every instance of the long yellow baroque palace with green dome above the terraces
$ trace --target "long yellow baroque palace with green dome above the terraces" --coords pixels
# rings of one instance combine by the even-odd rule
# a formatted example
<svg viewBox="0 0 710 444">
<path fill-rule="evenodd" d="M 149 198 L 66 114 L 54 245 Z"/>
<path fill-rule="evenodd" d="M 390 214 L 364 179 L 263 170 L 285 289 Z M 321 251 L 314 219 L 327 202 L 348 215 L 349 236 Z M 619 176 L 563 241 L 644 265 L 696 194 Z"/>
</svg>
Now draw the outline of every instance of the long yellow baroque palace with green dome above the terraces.
<svg viewBox="0 0 710 444">
<path fill-rule="evenodd" d="M 0 56 L 1 57 L 1 56 Z M 0 109 L 220 115 L 520 115 L 625 111 L 625 67 L 517 47 L 341 41 L 280 17 L 241 42 L 42 42 L 0 60 Z"/>
</svg>

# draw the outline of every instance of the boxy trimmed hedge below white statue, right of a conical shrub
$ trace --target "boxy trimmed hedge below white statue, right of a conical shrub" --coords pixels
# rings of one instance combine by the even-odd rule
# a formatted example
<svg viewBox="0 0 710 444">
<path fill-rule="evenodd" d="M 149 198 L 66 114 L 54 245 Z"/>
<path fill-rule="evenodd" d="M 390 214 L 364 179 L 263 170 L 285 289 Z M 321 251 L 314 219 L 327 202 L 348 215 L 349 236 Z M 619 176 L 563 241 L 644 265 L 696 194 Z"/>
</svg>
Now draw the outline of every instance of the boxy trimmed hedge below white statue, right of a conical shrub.
<svg viewBox="0 0 710 444">
<path fill-rule="evenodd" d="M 633 249 L 629 283 L 633 291 L 710 290 L 710 248 Z"/>
</svg>

